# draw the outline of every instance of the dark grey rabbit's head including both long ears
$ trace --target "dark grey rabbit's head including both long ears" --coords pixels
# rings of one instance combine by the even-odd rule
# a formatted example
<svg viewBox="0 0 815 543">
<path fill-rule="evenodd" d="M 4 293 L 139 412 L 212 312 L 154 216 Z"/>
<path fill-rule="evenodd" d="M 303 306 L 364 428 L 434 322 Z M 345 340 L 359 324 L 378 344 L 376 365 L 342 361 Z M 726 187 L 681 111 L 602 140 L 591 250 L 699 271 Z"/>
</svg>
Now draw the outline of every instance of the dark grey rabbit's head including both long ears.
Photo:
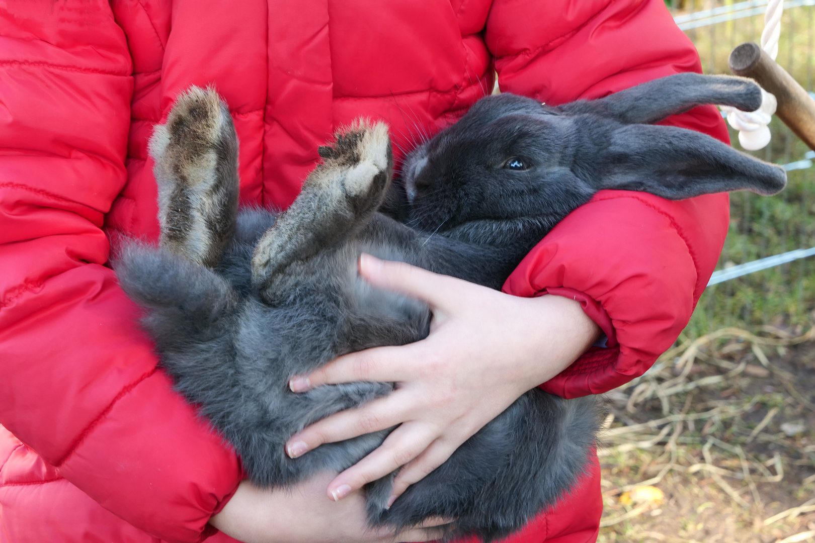
<svg viewBox="0 0 815 543">
<path fill-rule="evenodd" d="M 778 166 L 692 130 L 641 124 L 702 103 L 753 110 L 760 89 L 743 78 L 683 73 L 561 107 L 488 96 L 407 155 L 401 184 L 411 218 L 443 232 L 469 221 L 562 217 L 601 189 L 667 199 L 782 190 Z"/>
</svg>

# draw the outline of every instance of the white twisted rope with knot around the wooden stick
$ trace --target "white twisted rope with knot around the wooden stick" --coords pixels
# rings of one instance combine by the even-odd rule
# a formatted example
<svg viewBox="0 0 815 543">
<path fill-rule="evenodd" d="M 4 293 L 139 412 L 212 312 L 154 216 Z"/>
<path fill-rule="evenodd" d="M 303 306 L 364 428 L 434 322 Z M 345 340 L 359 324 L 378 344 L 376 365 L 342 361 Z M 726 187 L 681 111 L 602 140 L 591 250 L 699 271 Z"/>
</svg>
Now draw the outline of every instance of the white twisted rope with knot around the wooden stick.
<svg viewBox="0 0 815 543">
<path fill-rule="evenodd" d="M 761 33 L 761 49 L 773 60 L 778 56 L 778 39 L 781 37 L 781 15 L 784 11 L 782 0 L 769 0 L 764 12 L 764 31 Z M 761 107 L 755 112 L 742 112 L 735 107 L 722 106 L 727 113 L 727 121 L 738 130 L 738 142 L 750 151 L 766 147 L 769 143 L 769 121 L 775 113 L 778 102 L 773 94 L 761 90 Z"/>
</svg>

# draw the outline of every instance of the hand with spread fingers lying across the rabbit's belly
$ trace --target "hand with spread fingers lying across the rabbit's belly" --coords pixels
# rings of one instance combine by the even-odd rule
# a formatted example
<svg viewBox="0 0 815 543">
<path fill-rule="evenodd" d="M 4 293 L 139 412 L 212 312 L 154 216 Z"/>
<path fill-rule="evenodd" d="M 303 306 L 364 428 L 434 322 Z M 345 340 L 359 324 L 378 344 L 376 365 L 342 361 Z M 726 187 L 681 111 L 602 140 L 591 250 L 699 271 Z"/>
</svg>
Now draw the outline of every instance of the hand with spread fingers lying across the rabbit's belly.
<svg viewBox="0 0 815 543">
<path fill-rule="evenodd" d="M 354 381 L 396 383 L 390 396 L 333 414 L 289 439 L 286 450 L 295 458 L 320 444 L 399 425 L 378 449 L 331 481 L 328 496 L 334 500 L 403 466 L 392 504 L 600 335 L 579 302 L 561 296 L 509 296 L 369 255 L 360 258 L 359 273 L 378 287 L 425 300 L 433 320 L 421 341 L 350 353 L 289 383 L 294 392 Z"/>
</svg>

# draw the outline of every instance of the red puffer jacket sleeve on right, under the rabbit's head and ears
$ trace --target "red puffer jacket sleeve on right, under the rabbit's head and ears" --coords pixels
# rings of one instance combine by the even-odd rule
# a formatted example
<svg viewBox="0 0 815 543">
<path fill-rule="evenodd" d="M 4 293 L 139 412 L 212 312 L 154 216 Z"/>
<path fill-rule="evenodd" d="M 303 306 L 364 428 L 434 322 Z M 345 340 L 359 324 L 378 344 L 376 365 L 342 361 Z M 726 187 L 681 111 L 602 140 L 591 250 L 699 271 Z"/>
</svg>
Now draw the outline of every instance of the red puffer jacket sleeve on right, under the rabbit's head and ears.
<svg viewBox="0 0 815 543">
<path fill-rule="evenodd" d="M 490 11 L 486 40 L 502 91 L 553 105 L 702 71 L 693 44 L 661 0 L 500 0 Z M 729 143 L 713 106 L 661 124 Z M 513 272 L 504 291 L 579 300 L 609 342 L 541 387 L 560 396 L 584 396 L 645 373 L 689 321 L 728 223 L 726 194 L 668 201 L 603 190 L 558 224 Z"/>
</svg>

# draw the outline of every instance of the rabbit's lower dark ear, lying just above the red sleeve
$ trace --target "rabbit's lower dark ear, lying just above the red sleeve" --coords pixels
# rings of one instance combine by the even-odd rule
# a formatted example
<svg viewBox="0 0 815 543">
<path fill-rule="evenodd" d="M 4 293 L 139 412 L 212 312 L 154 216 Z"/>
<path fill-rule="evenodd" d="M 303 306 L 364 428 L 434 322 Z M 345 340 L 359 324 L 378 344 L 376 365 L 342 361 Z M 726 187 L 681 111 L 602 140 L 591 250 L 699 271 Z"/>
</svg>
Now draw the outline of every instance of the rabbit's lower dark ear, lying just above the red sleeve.
<svg viewBox="0 0 815 543">
<path fill-rule="evenodd" d="M 786 186 L 780 166 L 673 126 L 622 126 L 597 161 L 597 189 L 643 190 L 667 199 L 740 189 L 774 195 Z"/>
</svg>

